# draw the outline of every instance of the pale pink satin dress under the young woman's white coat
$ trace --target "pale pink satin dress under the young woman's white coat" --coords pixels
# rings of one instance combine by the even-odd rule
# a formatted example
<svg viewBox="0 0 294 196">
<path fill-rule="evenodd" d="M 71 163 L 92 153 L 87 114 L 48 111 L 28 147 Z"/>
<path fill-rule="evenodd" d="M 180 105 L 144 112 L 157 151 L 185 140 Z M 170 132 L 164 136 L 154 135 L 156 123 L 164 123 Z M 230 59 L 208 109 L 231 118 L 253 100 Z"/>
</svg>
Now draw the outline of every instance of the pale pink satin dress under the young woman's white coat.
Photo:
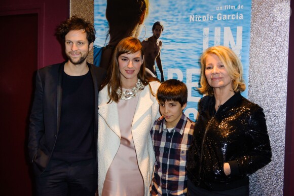
<svg viewBox="0 0 294 196">
<path fill-rule="evenodd" d="M 121 145 L 109 167 L 103 185 L 103 196 L 144 196 L 144 183 L 138 168 L 131 125 L 138 97 L 118 103 Z"/>
</svg>

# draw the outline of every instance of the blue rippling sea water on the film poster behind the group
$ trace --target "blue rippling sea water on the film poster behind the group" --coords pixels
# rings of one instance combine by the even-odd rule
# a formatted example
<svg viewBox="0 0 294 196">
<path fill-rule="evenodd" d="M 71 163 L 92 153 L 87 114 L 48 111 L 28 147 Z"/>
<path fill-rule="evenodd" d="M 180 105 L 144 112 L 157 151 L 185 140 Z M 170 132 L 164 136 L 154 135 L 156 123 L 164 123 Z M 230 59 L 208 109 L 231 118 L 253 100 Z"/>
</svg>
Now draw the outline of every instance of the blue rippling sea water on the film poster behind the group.
<svg viewBox="0 0 294 196">
<path fill-rule="evenodd" d="M 105 43 L 105 9 L 105 0 L 94 1 L 95 45 L 103 46 Z M 200 81 L 199 58 L 206 48 L 213 45 L 232 48 L 241 58 L 248 86 L 250 17 L 251 1 L 150 0 L 149 16 L 144 22 L 145 38 L 152 36 L 154 22 L 163 22 L 164 31 L 160 39 L 163 42 L 161 60 L 164 77 L 165 80 L 173 78 L 187 84 L 188 104 L 184 112 L 192 120 L 197 117 L 197 105 L 203 96 L 196 87 Z M 157 73 L 160 78 L 160 72 Z M 247 90 L 242 95 L 247 97 Z"/>
</svg>

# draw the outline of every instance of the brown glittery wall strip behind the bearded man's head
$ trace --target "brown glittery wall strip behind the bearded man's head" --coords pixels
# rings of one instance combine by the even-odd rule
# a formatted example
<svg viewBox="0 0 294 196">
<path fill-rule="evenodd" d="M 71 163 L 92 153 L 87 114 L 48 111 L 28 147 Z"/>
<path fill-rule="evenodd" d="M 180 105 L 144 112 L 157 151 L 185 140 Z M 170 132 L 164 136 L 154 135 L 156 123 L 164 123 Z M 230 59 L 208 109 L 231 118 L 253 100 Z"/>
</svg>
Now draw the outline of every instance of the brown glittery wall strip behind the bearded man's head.
<svg viewBox="0 0 294 196">
<path fill-rule="evenodd" d="M 105 0 L 106 1 L 106 0 Z M 94 0 L 70 0 L 70 16 L 77 15 L 85 20 L 94 22 Z M 87 61 L 93 63 L 93 50 Z"/>
</svg>

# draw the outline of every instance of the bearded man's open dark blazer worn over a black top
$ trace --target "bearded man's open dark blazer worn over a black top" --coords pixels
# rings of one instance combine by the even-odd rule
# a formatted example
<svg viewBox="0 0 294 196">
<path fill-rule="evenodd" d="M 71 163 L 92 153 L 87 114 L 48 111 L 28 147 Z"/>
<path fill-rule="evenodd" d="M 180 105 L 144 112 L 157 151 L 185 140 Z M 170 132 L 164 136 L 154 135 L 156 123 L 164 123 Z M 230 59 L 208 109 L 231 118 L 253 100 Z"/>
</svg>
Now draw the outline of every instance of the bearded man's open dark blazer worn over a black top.
<svg viewBox="0 0 294 196">
<path fill-rule="evenodd" d="M 61 96 L 62 73 L 64 63 L 53 64 L 42 68 L 36 73 L 36 87 L 29 123 L 29 158 L 33 163 L 35 175 L 44 172 L 54 150 L 58 137 Z M 97 141 L 98 131 L 98 92 L 104 80 L 106 70 L 87 63 L 94 84 L 95 92 L 95 124 L 94 139 Z M 97 142 L 94 142 L 97 159 Z"/>
</svg>

